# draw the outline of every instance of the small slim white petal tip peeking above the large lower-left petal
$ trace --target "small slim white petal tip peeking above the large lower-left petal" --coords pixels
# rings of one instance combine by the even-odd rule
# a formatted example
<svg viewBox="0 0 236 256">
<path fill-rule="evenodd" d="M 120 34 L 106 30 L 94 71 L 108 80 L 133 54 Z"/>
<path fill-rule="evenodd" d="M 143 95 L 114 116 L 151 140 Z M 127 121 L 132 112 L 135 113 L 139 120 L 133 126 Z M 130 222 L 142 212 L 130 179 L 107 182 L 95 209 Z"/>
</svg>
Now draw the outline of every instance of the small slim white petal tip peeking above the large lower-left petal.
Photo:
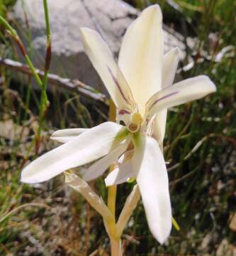
<svg viewBox="0 0 236 256">
<path fill-rule="evenodd" d="M 65 143 L 69 142 L 72 139 L 77 138 L 77 136 L 87 131 L 89 131 L 89 129 L 86 128 L 60 129 L 57 130 L 56 132 L 53 132 L 50 139 L 53 139 L 57 142 Z"/>
</svg>

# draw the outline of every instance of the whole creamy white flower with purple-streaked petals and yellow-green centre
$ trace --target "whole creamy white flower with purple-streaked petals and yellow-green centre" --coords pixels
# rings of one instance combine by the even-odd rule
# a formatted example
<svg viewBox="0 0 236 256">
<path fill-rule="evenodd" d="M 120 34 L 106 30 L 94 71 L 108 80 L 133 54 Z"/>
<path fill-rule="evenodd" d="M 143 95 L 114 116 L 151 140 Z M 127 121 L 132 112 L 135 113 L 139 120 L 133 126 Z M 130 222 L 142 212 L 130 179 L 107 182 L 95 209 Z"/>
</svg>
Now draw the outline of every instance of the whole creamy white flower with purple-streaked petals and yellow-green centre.
<svg viewBox="0 0 236 256">
<path fill-rule="evenodd" d="M 105 122 L 91 129 L 55 132 L 52 139 L 64 144 L 26 166 L 21 181 L 47 181 L 67 169 L 99 159 L 83 171 L 84 179 L 89 181 L 101 176 L 120 158 L 106 184 L 136 177 L 150 230 L 163 243 L 172 228 L 169 182 L 162 154 L 167 108 L 215 92 L 215 85 L 205 75 L 172 85 L 179 53 L 177 48 L 163 53 L 162 12 L 158 5 L 142 11 L 130 25 L 118 64 L 99 33 L 81 28 L 81 35 L 86 54 L 117 107 L 120 124 Z M 133 149 L 128 151 L 130 144 Z"/>
</svg>

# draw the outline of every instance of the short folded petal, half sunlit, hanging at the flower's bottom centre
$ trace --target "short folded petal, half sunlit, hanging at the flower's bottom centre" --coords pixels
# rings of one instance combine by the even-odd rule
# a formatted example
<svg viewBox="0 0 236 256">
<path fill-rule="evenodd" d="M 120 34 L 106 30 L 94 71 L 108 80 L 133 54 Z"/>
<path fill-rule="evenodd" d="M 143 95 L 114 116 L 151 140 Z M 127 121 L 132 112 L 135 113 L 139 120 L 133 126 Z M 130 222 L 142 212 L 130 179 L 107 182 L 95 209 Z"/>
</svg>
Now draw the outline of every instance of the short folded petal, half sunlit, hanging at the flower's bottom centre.
<svg viewBox="0 0 236 256">
<path fill-rule="evenodd" d="M 118 164 L 116 169 L 111 171 L 110 174 L 105 178 L 106 186 L 118 185 L 124 183 L 128 178 L 133 178 L 136 176 L 133 171 L 132 160 L 125 161 L 123 164 Z"/>
</svg>

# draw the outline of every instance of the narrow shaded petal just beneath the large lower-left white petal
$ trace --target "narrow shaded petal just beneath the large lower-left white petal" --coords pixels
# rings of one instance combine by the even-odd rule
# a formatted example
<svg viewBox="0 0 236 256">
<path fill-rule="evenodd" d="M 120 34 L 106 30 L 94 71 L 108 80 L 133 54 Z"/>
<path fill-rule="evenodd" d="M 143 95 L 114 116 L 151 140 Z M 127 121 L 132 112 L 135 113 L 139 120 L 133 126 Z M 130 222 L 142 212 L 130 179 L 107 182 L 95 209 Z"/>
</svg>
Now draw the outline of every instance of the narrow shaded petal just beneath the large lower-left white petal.
<svg viewBox="0 0 236 256">
<path fill-rule="evenodd" d="M 88 169 L 82 170 L 84 181 L 91 181 L 99 176 L 103 175 L 103 173 L 113 164 L 114 161 L 117 161 L 121 154 L 127 149 L 128 144 L 130 143 L 130 137 L 125 139 L 125 141 L 120 144 L 116 149 L 113 149 L 109 154 L 104 156 L 96 163 L 89 166 Z"/>
</svg>

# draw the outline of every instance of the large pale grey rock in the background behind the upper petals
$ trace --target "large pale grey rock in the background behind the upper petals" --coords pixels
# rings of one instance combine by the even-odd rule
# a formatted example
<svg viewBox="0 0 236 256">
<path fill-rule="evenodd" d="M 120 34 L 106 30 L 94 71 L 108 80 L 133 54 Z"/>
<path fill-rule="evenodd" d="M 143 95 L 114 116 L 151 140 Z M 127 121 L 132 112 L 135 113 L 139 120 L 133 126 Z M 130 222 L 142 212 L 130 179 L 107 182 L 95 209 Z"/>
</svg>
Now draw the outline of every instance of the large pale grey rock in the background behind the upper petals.
<svg viewBox="0 0 236 256">
<path fill-rule="evenodd" d="M 33 46 L 33 63 L 43 69 L 45 58 L 45 17 L 42 0 L 18 0 L 13 16 L 17 30 L 28 44 L 26 11 Z M 52 63 L 50 72 L 71 79 L 79 79 L 103 92 L 102 82 L 86 57 L 79 38 L 79 27 L 86 26 L 99 31 L 113 51 L 118 55 L 120 42 L 126 28 L 138 11 L 120 0 L 48 0 L 52 33 Z M 174 33 L 176 35 L 176 33 Z M 165 51 L 178 46 L 184 57 L 181 36 L 165 31 Z M 29 48 L 28 48 L 29 49 Z"/>
</svg>

